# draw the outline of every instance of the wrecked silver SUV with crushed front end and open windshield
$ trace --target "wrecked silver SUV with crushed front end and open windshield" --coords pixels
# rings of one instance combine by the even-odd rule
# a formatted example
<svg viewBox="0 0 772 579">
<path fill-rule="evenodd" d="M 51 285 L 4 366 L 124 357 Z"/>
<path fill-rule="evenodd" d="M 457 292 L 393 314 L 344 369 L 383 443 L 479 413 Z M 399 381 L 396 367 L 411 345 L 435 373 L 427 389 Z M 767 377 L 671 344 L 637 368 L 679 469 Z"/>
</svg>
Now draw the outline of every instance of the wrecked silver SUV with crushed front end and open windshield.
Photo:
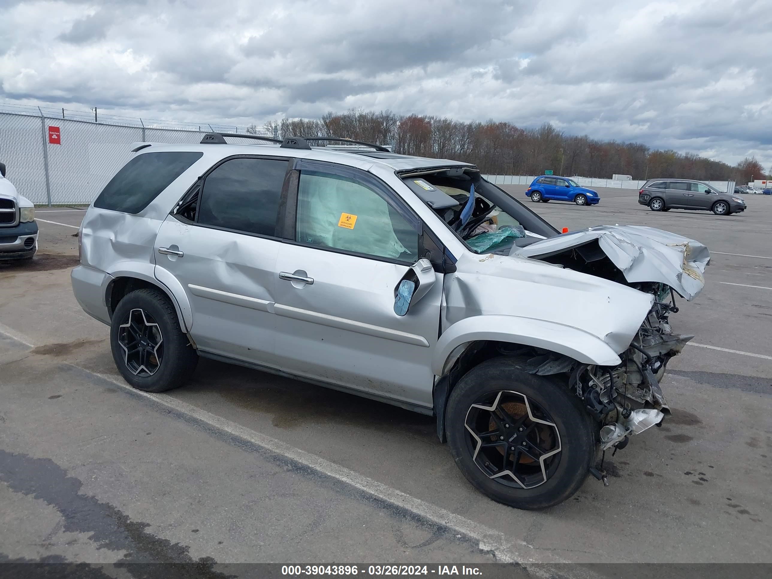
<svg viewBox="0 0 772 579">
<path fill-rule="evenodd" d="M 135 388 L 208 357 L 434 415 L 472 485 L 524 509 L 669 413 L 703 245 L 561 235 L 472 164 L 236 136 L 136 144 L 83 219 L 73 291 Z"/>
</svg>

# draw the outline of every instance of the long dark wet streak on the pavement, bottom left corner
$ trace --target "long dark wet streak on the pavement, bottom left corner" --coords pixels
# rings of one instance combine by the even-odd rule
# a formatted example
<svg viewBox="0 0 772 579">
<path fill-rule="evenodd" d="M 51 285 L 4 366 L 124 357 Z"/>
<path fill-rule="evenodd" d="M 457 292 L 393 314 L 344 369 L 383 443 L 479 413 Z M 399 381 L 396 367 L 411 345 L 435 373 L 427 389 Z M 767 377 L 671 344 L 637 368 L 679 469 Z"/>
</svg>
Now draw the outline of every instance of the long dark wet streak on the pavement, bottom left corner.
<svg viewBox="0 0 772 579">
<path fill-rule="evenodd" d="M 140 571 L 131 564 L 164 563 L 164 577 L 229 577 L 214 571 L 212 557 L 193 559 L 190 547 L 147 532 L 149 523 L 133 521 L 110 503 L 95 496 L 80 494 L 83 483 L 51 459 L 36 459 L 22 453 L 0 450 L 0 480 L 15 493 L 32 496 L 53 506 L 63 517 L 63 531 L 90 533 L 89 539 L 100 549 L 125 552 L 116 567 L 135 575 Z M 53 561 L 52 561 L 53 562 Z"/>
</svg>

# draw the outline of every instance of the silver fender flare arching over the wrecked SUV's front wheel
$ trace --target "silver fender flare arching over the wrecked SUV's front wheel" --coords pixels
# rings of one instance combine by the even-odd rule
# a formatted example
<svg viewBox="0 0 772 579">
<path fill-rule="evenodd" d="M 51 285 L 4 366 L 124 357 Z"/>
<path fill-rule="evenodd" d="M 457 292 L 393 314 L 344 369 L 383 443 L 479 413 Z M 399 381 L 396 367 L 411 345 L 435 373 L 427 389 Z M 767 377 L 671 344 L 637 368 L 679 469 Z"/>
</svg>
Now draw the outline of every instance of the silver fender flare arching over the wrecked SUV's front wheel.
<svg viewBox="0 0 772 579">
<path fill-rule="evenodd" d="M 452 324 L 439 337 L 432 357 L 432 372 L 437 376 L 447 374 L 462 353 L 463 348 L 459 346 L 475 340 L 540 347 L 583 364 L 615 366 L 621 362 L 603 340 L 575 327 L 520 316 L 472 316 Z"/>
</svg>

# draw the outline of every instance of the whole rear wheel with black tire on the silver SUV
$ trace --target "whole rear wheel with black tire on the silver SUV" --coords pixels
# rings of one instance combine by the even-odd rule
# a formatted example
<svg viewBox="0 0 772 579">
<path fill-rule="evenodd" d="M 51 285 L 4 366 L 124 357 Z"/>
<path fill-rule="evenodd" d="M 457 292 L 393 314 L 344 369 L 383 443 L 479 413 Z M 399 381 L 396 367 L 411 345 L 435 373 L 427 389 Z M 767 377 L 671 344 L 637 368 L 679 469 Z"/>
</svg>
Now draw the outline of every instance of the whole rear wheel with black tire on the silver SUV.
<svg viewBox="0 0 772 579">
<path fill-rule="evenodd" d="M 174 306 L 160 289 L 136 289 L 118 302 L 110 323 L 110 349 L 124 380 L 146 392 L 178 388 L 198 363 Z"/>
</svg>

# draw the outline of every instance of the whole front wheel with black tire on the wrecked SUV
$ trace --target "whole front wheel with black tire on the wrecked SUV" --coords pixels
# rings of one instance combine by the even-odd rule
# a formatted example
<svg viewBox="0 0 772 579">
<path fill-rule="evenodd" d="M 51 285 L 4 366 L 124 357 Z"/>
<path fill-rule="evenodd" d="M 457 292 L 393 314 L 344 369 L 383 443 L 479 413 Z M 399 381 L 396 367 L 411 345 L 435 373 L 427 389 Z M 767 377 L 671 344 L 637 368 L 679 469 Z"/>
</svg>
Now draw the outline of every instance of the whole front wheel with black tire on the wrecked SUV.
<svg viewBox="0 0 772 579">
<path fill-rule="evenodd" d="M 511 425 L 515 428 L 506 432 L 502 430 L 504 442 L 496 441 L 496 435 L 482 438 L 472 435 L 469 422 L 472 429 L 479 431 L 479 428 L 488 428 L 489 424 L 506 421 L 499 416 L 495 423 L 490 411 L 473 406 L 491 407 L 496 402 L 499 403 L 497 408 L 508 408 L 510 418 L 525 422 L 520 426 Z M 532 413 L 534 418 L 541 417 L 545 422 L 531 421 Z M 504 424 L 510 426 L 507 422 Z M 524 428 L 525 432 L 519 428 Z M 579 398 L 557 380 L 528 374 L 522 364 L 510 357 L 483 362 L 459 380 L 448 401 L 445 430 L 455 464 L 472 486 L 491 499 L 518 509 L 544 509 L 570 498 L 587 478 L 598 448 L 597 426 L 584 411 Z M 518 435 L 521 444 L 534 455 L 537 452 L 531 449 L 533 436 L 537 437 L 538 445 L 547 445 L 551 440 L 551 448 L 547 445 L 541 451 L 540 456 L 545 457 L 541 461 L 543 469 L 537 466 L 540 461 L 516 445 Z M 482 444 L 483 439 L 488 441 L 488 448 L 477 446 L 477 441 Z M 508 451 L 507 445 L 511 445 L 510 450 L 521 453 Z M 505 452 L 509 452 L 506 458 Z M 506 473 L 507 461 L 510 473 L 515 472 L 518 480 Z"/>
</svg>

